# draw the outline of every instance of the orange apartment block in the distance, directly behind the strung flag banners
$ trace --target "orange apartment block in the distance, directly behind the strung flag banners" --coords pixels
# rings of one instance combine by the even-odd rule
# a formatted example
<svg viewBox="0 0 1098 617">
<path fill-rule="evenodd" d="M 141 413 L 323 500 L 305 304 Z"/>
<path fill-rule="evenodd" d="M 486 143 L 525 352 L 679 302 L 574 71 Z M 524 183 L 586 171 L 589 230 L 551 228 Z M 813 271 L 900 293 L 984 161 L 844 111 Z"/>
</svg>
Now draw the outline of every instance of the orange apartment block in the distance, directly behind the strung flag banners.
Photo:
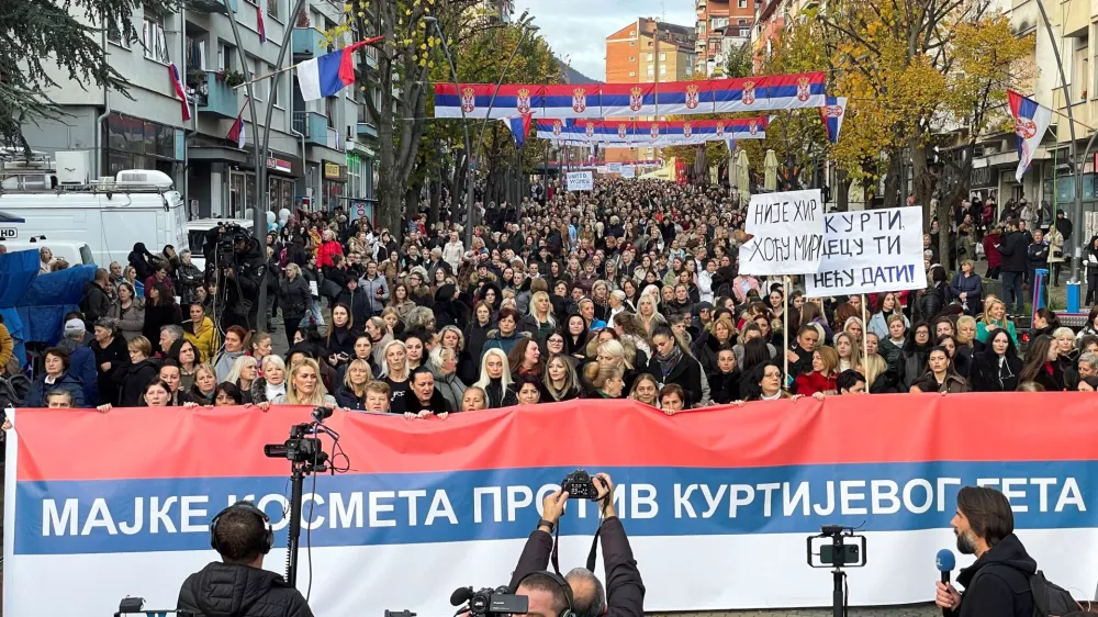
<svg viewBox="0 0 1098 617">
<path fill-rule="evenodd" d="M 696 65 L 694 29 L 638 18 L 606 37 L 607 83 L 659 83 L 694 79 Z M 661 116 L 662 117 L 662 116 Z M 630 116 L 610 120 L 657 120 Z M 659 158 L 659 148 L 606 148 L 607 162 L 635 162 Z"/>
</svg>

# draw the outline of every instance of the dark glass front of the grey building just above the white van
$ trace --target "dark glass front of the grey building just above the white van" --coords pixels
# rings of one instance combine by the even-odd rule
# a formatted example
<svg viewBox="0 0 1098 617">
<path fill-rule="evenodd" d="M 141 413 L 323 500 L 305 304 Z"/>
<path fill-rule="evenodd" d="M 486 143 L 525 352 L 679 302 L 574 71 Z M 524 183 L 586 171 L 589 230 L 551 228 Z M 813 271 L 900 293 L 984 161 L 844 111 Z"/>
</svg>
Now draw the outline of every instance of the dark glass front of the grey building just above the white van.
<svg viewBox="0 0 1098 617">
<path fill-rule="evenodd" d="M 175 165 L 182 159 L 182 133 L 175 126 L 112 113 L 103 120 L 107 143 L 103 148 L 103 176 L 116 176 L 123 169 L 155 169 L 175 176 Z M 178 146 L 178 149 L 177 149 Z"/>
</svg>

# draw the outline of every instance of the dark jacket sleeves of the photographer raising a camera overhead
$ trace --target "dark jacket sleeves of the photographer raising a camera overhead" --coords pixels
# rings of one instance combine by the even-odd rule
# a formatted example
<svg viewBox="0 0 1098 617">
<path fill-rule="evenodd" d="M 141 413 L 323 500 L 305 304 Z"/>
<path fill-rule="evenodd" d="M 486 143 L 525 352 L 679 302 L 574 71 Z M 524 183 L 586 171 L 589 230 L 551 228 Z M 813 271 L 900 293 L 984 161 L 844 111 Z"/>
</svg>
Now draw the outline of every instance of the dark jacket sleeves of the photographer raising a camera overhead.
<svg viewBox="0 0 1098 617">
<path fill-rule="evenodd" d="M 645 582 L 640 579 L 637 560 L 632 558 L 629 538 L 617 517 L 603 521 L 598 532 L 603 545 L 603 564 L 606 568 L 606 616 L 641 617 L 645 614 Z M 526 541 L 523 556 L 511 579 L 512 593 L 528 574 L 549 568 L 552 552 L 552 536 L 535 529 Z"/>
</svg>

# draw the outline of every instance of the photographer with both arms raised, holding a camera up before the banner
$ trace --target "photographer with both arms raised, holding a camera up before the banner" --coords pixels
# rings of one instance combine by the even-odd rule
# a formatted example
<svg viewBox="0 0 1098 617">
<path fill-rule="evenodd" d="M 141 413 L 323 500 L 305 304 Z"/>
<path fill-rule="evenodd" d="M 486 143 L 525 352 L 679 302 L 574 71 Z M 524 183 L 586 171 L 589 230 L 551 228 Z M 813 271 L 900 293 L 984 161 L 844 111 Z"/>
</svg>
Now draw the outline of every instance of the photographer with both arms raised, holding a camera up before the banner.
<svg viewBox="0 0 1098 617">
<path fill-rule="evenodd" d="M 603 545 L 603 563 L 606 568 L 606 588 L 593 572 L 576 568 L 564 577 L 572 592 L 572 612 L 576 617 L 600 615 L 641 617 L 645 614 L 645 583 L 640 579 L 637 561 L 632 558 L 625 527 L 614 508 L 614 484 L 610 476 L 600 473 L 593 479 L 596 496 L 603 509 L 598 537 Z M 560 594 L 552 588 L 552 575 L 545 570 L 552 552 L 552 531 L 557 527 L 568 502 L 568 493 L 557 491 L 542 501 L 542 517 L 538 528 L 526 541 L 518 566 L 511 580 L 516 594 L 529 596 L 530 614 L 541 613 L 540 607 L 551 606 L 546 615 L 558 615 Z M 546 581 L 541 581 L 546 579 Z M 557 590 L 559 592 L 559 590 Z"/>
</svg>

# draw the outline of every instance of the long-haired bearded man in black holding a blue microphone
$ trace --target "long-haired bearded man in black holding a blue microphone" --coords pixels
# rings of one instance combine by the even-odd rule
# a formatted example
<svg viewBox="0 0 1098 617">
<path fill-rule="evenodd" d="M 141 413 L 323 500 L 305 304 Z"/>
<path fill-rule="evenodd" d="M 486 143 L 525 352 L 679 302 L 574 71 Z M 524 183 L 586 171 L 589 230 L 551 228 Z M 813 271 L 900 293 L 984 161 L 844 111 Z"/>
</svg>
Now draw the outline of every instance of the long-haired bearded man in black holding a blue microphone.
<svg viewBox="0 0 1098 617">
<path fill-rule="evenodd" d="M 961 570 L 957 583 L 950 584 L 953 553 L 938 553 L 942 580 L 935 603 L 944 617 L 1032 617 L 1033 592 L 1030 576 L 1037 561 L 1015 536 L 1010 502 L 995 489 L 964 486 L 957 493 L 957 509 L 950 521 L 962 554 L 975 554 L 976 562 Z"/>
</svg>

